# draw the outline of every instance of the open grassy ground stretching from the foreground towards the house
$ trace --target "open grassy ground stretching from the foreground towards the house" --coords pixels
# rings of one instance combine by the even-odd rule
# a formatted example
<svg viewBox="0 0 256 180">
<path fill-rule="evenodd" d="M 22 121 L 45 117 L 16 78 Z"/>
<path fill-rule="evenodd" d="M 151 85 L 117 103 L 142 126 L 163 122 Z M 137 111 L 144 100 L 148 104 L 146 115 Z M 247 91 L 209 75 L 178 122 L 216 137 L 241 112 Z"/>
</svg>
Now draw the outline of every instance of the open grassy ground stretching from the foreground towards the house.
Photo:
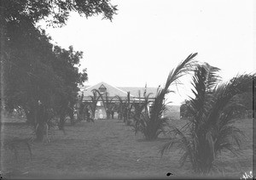
<svg viewBox="0 0 256 180">
<path fill-rule="evenodd" d="M 172 121 L 182 126 L 183 121 Z M 224 154 L 224 178 L 240 178 L 253 170 L 253 121 L 237 121 L 246 133 L 241 157 Z M 2 140 L 14 137 L 29 138 L 32 129 L 25 124 L 2 125 Z M 161 137 L 144 141 L 141 134 L 135 136 L 132 127 L 118 120 L 79 122 L 66 127 L 66 134 L 51 130 L 49 143 L 32 143 L 32 160 L 26 147 L 20 145 L 19 163 L 11 150 L 2 146 L 1 171 L 17 168 L 23 174 L 11 178 L 177 178 L 194 177 L 189 164 L 179 167 L 178 149 L 160 156 L 161 145 L 168 141 Z M 21 147 L 22 146 L 22 147 Z M 220 161 L 217 160 L 217 164 Z M 223 168 L 222 168 L 223 171 Z M 173 176 L 166 177 L 167 172 Z M 223 176 L 222 172 L 215 174 Z"/>
</svg>

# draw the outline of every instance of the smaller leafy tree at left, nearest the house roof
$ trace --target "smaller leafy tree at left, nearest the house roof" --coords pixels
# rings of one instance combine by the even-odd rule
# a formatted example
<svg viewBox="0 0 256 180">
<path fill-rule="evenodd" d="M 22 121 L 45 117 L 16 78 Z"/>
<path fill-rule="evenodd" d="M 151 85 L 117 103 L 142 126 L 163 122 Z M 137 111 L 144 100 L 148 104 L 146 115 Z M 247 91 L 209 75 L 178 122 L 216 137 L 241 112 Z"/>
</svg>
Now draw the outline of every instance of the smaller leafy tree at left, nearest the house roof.
<svg viewBox="0 0 256 180">
<path fill-rule="evenodd" d="M 55 73 L 61 77 L 63 84 L 58 93 L 56 93 L 56 110 L 60 114 L 59 128 L 63 129 L 66 114 L 73 121 L 73 105 L 77 102 L 79 92 L 78 84 L 87 80 L 86 69 L 79 72 L 79 60 L 82 59 L 82 52 L 73 51 L 73 47 L 68 50 L 55 46 L 54 53 L 56 60 L 53 61 Z"/>
</svg>

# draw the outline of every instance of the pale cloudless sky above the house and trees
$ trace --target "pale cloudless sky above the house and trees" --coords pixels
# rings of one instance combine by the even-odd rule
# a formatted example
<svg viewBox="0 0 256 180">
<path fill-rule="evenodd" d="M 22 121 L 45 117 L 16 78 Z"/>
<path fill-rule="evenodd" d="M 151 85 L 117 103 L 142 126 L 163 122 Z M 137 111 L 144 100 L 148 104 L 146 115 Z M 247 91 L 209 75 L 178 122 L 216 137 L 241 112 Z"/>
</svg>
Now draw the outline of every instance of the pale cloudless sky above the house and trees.
<svg viewBox="0 0 256 180">
<path fill-rule="evenodd" d="M 253 0 L 112 0 L 113 21 L 71 14 L 61 28 L 45 27 L 62 48 L 83 51 L 84 85 L 107 82 L 116 87 L 164 86 L 166 78 L 190 53 L 221 69 L 227 81 L 255 72 L 256 9 Z M 43 25 L 43 24 L 42 24 Z M 43 25 L 44 27 L 44 25 Z M 191 92 L 189 76 L 172 98 L 180 104 Z M 177 89 L 175 87 L 175 89 Z"/>
</svg>

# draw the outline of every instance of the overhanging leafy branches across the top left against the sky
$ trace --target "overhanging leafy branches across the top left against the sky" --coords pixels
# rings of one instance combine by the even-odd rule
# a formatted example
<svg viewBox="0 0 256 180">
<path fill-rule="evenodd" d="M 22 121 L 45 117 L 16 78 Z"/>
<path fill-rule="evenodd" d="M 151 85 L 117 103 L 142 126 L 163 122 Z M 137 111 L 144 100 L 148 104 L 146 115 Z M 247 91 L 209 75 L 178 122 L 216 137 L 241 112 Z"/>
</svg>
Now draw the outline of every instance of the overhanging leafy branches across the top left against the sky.
<svg viewBox="0 0 256 180">
<path fill-rule="evenodd" d="M 86 18 L 102 14 L 103 19 L 112 20 L 117 6 L 109 0 L 1 0 L 1 11 L 6 21 L 27 20 L 36 23 L 46 19 L 48 25 L 65 25 L 71 12 Z"/>
</svg>

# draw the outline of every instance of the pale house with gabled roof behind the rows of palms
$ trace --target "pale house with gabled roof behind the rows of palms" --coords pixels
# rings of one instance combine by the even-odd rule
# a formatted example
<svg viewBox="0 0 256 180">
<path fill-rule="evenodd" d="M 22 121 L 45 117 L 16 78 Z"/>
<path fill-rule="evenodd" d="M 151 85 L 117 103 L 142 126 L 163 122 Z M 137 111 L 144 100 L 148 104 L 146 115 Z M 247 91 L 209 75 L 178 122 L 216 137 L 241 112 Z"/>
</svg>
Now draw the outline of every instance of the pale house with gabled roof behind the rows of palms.
<svg viewBox="0 0 256 180">
<path fill-rule="evenodd" d="M 150 94 L 148 100 L 151 103 L 148 104 L 147 109 L 150 113 L 152 104 L 154 102 L 154 97 L 160 90 L 160 87 L 114 87 L 106 82 L 99 82 L 90 87 L 80 87 L 81 91 L 79 93 L 79 97 L 83 97 L 83 104 L 88 107 L 88 110 L 90 110 L 90 105 L 93 103 L 92 97 L 94 89 L 101 93 L 103 98 L 103 100 L 102 98 L 98 98 L 96 103 L 95 118 L 107 119 L 106 110 L 108 110 L 110 117 L 113 115 L 113 118 L 118 118 L 120 103 L 125 104 L 127 101 L 129 101 L 130 104 L 141 104 L 145 100 L 144 96 L 147 96 L 148 94 Z M 106 104 L 106 101 L 108 104 Z M 171 114 L 178 114 L 176 116 L 179 119 L 179 107 L 168 106 L 167 108 Z"/>
</svg>

